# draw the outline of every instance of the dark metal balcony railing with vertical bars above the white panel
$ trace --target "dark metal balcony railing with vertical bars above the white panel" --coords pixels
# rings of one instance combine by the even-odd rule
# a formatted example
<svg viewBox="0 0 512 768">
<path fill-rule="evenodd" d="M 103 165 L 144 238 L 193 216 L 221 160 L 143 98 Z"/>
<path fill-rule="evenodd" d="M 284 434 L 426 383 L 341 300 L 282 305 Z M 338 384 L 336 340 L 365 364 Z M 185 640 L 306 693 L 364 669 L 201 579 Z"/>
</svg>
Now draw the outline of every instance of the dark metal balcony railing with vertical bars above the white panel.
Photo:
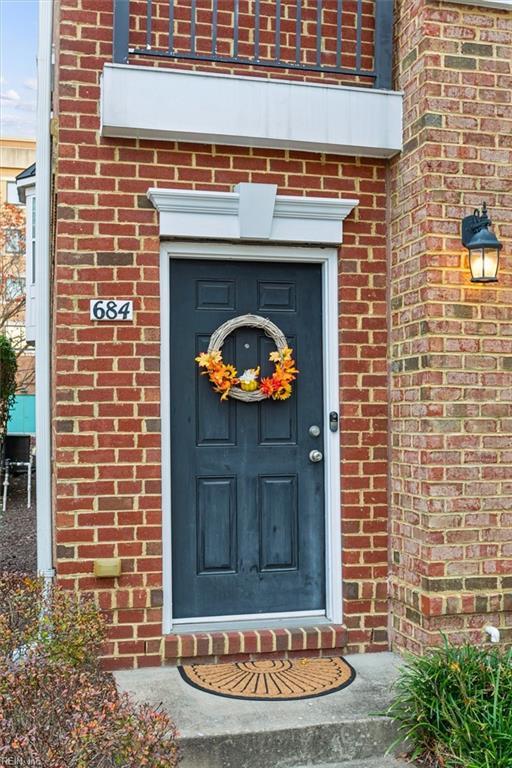
<svg viewBox="0 0 512 768">
<path fill-rule="evenodd" d="M 393 0 L 113 3 L 115 63 L 126 64 L 130 56 L 211 61 L 344 75 L 392 87 Z"/>
</svg>

